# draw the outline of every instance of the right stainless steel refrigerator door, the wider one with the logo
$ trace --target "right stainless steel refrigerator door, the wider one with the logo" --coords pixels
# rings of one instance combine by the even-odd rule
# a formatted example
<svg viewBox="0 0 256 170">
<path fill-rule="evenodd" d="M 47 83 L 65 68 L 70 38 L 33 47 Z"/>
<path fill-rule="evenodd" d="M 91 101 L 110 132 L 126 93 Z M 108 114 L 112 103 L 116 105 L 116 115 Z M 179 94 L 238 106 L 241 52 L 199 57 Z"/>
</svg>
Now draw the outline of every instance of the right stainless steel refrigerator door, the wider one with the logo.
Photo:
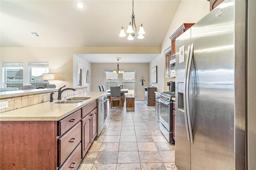
<svg viewBox="0 0 256 170">
<path fill-rule="evenodd" d="M 245 9 L 245 3 L 239 3 Z M 191 115 L 194 137 L 191 170 L 245 168 L 238 165 L 244 164 L 245 156 L 241 156 L 240 163 L 235 161 L 238 154 L 244 153 L 235 152 L 236 142 L 240 142 L 235 141 L 236 133 L 240 132 L 235 131 L 234 124 L 235 107 L 239 105 L 235 106 L 234 98 L 235 64 L 239 62 L 235 61 L 234 54 L 234 16 L 234 1 L 226 0 L 191 27 L 196 82 L 196 106 Z M 241 30 L 241 34 L 243 32 Z M 237 43 L 245 44 L 240 40 Z M 243 131 L 242 128 L 239 130 Z M 244 137 L 239 140 L 244 141 Z"/>
</svg>

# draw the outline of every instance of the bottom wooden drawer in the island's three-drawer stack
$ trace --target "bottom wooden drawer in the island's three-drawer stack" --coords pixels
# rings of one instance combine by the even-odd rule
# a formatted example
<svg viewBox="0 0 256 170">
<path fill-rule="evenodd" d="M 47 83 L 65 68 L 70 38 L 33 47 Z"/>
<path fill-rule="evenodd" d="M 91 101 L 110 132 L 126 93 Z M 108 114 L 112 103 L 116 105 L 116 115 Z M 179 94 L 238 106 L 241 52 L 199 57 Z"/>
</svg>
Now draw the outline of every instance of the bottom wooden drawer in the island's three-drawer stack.
<svg viewBox="0 0 256 170">
<path fill-rule="evenodd" d="M 74 151 L 68 156 L 68 159 L 62 164 L 62 166 L 59 168 L 59 170 L 70 170 L 73 169 L 76 170 L 82 161 L 81 158 L 81 143 L 74 149 Z"/>
</svg>

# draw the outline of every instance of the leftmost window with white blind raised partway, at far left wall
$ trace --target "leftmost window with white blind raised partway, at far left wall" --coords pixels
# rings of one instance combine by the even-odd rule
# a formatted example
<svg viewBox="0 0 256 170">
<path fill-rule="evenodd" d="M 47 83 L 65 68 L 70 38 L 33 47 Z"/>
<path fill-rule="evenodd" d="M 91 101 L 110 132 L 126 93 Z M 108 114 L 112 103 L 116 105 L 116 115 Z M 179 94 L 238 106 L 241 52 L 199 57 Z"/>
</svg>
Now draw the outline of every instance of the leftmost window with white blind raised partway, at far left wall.
<svg viewBox="0 0 256 170">
<path fill-rule="evenodd" d="M 5 88 L 22 89 L 23 86 L 23 63 L 3 62 L 3 79 Z"/>
</svg>

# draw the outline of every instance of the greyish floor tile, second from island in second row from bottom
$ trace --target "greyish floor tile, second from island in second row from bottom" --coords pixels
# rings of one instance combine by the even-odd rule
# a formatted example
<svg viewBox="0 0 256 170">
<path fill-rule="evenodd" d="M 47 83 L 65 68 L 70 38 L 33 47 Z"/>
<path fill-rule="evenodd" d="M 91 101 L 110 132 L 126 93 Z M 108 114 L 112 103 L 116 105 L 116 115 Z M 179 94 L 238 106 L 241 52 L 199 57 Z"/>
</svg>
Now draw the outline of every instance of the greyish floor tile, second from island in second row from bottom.
<svg viewBox="0 0 256 170">
<path fill-rule="evenodd" d="M 98 152 L 94 164 L 116 164 L 117 157 L 118 152 Z"/>
</svg>

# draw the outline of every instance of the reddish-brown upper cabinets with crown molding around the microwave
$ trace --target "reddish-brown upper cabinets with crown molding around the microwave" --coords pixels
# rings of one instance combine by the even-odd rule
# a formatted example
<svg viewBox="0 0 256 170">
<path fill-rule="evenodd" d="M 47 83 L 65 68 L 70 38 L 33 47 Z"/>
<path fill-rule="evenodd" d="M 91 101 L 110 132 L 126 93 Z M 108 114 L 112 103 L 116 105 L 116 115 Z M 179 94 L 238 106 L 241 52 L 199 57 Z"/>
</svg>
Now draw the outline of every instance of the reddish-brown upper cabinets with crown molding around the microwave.
<svg viewBox="0 0 256 170">
<path fill-rule="evenodd" d="M 166 78 L 170 78 L 170 60 L 174 59 L 176 57 L 176 51 L 175 51 L 175 41 L 176 38 L 178 38 L 182 33 L 184 33 L 186 30 L 188 30 L 192 25 L 195 23 L 183 23 L 170 37 L 171 40 L 171 47 L 169 47 L 164 53 L 166 58 Z"/>
</svg>

